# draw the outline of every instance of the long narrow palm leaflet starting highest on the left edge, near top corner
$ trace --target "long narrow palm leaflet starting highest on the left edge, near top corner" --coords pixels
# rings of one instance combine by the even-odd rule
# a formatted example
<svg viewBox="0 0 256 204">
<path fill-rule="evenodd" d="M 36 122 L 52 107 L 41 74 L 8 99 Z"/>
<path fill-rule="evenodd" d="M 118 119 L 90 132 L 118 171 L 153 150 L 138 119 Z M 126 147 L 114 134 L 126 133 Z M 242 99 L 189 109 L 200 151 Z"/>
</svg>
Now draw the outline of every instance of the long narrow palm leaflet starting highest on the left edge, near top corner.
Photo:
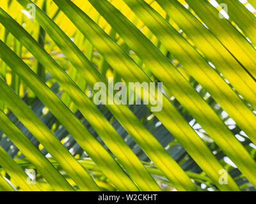
<svg viewBox="0 0 256 204">
<path fill-rule="evenodd" d="M 7 13 L 0 10 L 4 15 L 1 22 L 22 42 L 24 47 L 35 55 L 35 57 L 49 68 L 49 72 L 56 78 L 63 89 L 68 93 L 70 98 L 76 103 L 84 117 L 92 124 L 93 128 L 99 133 L 102 140 L 108 145 L 109 149 L 123 164 L 131 178 L 141 187 L 143 191 L 160 190 L 154 179 L 141 164 L 140 160 L 132 152 L 129 146 L 122 140 L 115 129 L 109 124 L 108 120 L 93 105 L 90 99 L 77 87 L 71 78 L 63 71 L 63 69 L 51 58 L 45 50 L 19 25 L 15 20 L 8 17 Z M 4 20 L 8 18 L 8 20 Z M 25 36 L 24 38 L 22 38 Z"/>
</svg>

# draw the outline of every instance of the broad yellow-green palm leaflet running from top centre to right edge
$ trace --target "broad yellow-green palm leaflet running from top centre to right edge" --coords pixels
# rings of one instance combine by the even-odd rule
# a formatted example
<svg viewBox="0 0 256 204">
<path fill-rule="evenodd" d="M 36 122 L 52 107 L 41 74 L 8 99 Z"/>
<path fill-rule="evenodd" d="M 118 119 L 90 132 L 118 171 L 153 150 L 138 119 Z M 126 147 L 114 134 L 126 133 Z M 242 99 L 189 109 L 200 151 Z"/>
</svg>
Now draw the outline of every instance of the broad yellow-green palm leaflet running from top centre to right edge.
<svg viewBox="0 0 256 204">
<path fill-rule="evenodd" d="M 186 73 L 195 78 L 211 94 L 212 98 L 220 104 L 223 110 L 236 121 L 236 124 L 243 129 L 251 140 L 256 143 L 256 115 L 245 105 L 220 75 L 211 68 L 207 61 L 164 18 L 157 15 L 156 11 L 152 10 L 145 1 L 124 1 L 131 6 L 136 15 L 143 20 L 145 25 L 150 28 L 163 45 L 173 53 L 173 56 L 184 66 Z M 113 14 L 112 12 L 107 13 Z M 156 24 L 159 27 L 156 27 Z M 132 29 L 129 30 L 132 31 Z M 128 33 L 125 32 L 125 34 Z M 126 39 L 135 40 L 129 36 Z M 136 45 L 136 43 L 130 43 L 129 45 Z M 133 46 L 132 49 L 135 50 L 136 47 Z"/>
</svg>

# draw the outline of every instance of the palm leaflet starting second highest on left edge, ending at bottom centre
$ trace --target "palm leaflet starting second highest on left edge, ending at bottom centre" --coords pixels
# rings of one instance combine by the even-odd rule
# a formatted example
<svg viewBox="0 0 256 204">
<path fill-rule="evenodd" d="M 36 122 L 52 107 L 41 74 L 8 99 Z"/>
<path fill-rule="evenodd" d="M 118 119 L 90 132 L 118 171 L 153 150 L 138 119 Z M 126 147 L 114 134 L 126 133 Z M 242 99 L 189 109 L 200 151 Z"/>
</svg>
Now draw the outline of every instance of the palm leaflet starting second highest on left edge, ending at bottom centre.
<svg viewBox="0 0 256 204">
<path fill-rule="evenodd" d="M 3 61 L 5 61 L 11 68 L 15 69 L 20 78 L 22 78 L 24 82 L 34 90 L 38 98 L 40 98 L 42 102 L 49 107 L 52 114 L 56 116 L 65 128 L 67 128 L 77 143 L 86 150 L 95 163 L 99 166 L 104 166 L 104 173 L 108 175 L 109 179 L 113 179 L 115 185 L 120 187 L 120 189 L 136 190 L 137 187 L 116 163 L 115 159 L 113 159 L 106 149 L 100 145 L 100 143 L 83 126 L 77 117 L 67 108 L 67 106 L 63 104 L 58 96 L 56 96 L 30 68 L 19 57 L 17 57 L 12 50 L 10 50 L 10 48 L 6 47 L 2 41 L 0 41 L 0 50 L 2 50 L 0 57 Z M 3 52 L 3 50 L 5 51 Z M 17 66 L 18 64 L 19 66 Z M 120 174 L 119 177 L 118 174 Z M 122 180 L 120 178 L 122 178 Z M 85 180 L 77 180 L 77 182 L 78 181 L 82 183 L 85 182 Z M 94 187 L 93 189 L 97 188 Z"/>
</svg>

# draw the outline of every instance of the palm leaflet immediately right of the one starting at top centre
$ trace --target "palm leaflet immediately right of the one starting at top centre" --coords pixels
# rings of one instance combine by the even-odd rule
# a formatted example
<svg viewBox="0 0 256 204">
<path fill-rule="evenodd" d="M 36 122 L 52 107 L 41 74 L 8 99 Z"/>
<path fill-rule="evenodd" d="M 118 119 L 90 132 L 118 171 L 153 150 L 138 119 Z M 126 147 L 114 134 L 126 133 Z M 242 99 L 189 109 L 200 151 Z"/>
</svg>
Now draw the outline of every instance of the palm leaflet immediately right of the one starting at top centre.
<svg viewBox="0 0 256 204">
<path fill-rule="evenodd" d="M 234 59 L 212 33 L 177 1 L 157 0 L 166 13 L 186 33 L 195 46 L 211 61 L 216 69 L 227 78 L 228 82 L 241 94 L 246 101 L 256 108 L 256 82 L 246 73 L 243 66 Z"/>
</svg>

